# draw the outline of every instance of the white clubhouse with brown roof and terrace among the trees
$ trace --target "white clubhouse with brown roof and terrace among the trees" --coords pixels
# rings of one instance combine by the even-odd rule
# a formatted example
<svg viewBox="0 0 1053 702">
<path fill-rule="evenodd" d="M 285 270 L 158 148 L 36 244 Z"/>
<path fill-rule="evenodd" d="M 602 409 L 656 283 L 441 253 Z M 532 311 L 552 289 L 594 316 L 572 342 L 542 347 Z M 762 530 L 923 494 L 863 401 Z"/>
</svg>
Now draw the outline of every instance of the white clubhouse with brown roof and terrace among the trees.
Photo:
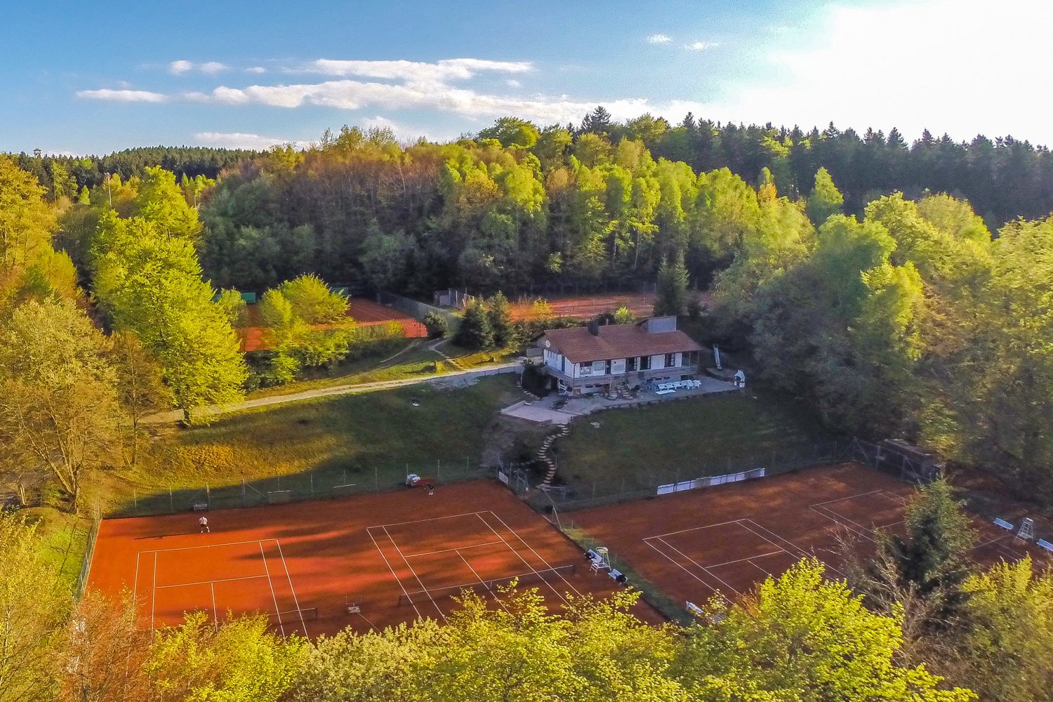
<svg viewBox="0 0 1053 702">
<path fill-rule="evenodd" d="M 676 328 L 676 317 L 637 324 L 590 322 L 549 329 L 536 340 L 553 389 L 571 395 L 639 389 L 687 380 L 698 373 L 699 346 Z"/>
</svg>

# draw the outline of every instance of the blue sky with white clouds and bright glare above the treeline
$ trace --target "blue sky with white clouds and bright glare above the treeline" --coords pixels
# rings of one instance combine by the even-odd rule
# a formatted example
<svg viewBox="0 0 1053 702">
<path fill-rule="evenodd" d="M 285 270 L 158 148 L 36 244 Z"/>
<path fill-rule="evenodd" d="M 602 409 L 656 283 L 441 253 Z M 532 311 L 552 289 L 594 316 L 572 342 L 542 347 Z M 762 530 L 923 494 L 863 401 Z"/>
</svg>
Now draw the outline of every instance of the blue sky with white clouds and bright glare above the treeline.
<svg viewBox="0 0 1053 702">
<path fill-rule="evenodd" d="M 1046 0 L 40 7 L 0 9 L 0 151 L 263 147 L 345 123 L 446 139 L 597 103 L 1053 143 Z"/>
</svg>

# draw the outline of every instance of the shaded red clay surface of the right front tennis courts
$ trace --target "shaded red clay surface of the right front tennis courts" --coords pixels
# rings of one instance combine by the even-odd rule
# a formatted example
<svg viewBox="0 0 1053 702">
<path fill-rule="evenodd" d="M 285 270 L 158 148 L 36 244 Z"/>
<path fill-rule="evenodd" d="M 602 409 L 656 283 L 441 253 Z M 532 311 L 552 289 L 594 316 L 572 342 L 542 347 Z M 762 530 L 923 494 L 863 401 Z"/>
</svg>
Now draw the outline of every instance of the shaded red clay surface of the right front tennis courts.
<svg viewBox="0 0 1053 702">
<path fill-rule="evenodd" d="M 702 604 L 717 591 L 734 599 L 808 555 L 839 577 L 837 534 L 868 547 L 875 529 L 898 530 L 913 490 L 847 463 L 595 507 L 573 519 L 674 599 Z M 975 525 L 980 545 L 973 555 L 980 563 L 1025 553 L 1038 565 L 1053 562 L 997 526 L 979 519 Z"/>
</svg>

